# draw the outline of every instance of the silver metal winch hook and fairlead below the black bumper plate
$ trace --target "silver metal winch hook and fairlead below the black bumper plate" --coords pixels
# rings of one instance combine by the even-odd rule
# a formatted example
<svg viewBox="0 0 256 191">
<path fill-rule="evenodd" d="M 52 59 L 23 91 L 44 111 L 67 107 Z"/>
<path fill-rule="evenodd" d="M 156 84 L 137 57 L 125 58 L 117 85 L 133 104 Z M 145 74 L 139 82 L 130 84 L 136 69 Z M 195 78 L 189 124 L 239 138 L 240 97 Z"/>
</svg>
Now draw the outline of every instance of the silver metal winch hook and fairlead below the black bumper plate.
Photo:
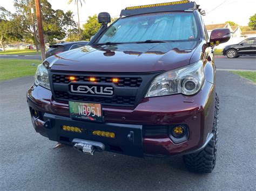
<svg viewBox="0 0 256 191">
<path fill-rule="evenodd" d="M 105 145 L 99 142 L 93 142 L 91 140 L 73 139 L 73 147 L 78 151 L 85 154 L 93 155 L 95 151 L 104 151 Z"/>
</svg>

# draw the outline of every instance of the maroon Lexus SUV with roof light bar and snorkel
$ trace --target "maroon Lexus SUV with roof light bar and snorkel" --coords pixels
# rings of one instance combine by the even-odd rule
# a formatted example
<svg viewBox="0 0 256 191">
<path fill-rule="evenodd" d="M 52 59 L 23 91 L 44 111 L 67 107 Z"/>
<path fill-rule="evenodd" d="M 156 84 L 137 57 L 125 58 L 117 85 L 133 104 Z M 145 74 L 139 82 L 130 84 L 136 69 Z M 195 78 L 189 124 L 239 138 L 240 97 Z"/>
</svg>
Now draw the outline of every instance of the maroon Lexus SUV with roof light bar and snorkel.
<svg viewBox="0 0 256 191">
<path fill-rule="evenodd" d="M 27 100 L 36 132 L 76 150 L 135 157 L 181 154 L 191 171 L 212 172 L 218 107 L 211 48 L 230 39 L 189 1 L 134 6 L 85 47 L 38 66 Z"/>
</svg>

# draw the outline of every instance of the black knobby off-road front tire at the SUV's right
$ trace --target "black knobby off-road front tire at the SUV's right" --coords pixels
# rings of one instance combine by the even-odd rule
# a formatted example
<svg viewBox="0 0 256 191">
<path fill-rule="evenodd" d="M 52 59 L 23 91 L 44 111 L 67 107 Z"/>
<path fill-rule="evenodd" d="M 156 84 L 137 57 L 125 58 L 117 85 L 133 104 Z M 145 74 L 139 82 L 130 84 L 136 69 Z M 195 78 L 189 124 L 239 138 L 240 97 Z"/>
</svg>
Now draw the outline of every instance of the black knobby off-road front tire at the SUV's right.
<svg viewBox="0 0 256 191">
<path fill-rule="evenodd" d="M 218 140 L 218 115 L 219 115 L 219 97 L 215 97 L 214 121 L 212 126 L 213 138 L 204 148 L 197 153 L 187 154 L 183 156 L 185 166 L 193 172 L 211 173 L 215 167 L 217 140 Z"/>
</svg>

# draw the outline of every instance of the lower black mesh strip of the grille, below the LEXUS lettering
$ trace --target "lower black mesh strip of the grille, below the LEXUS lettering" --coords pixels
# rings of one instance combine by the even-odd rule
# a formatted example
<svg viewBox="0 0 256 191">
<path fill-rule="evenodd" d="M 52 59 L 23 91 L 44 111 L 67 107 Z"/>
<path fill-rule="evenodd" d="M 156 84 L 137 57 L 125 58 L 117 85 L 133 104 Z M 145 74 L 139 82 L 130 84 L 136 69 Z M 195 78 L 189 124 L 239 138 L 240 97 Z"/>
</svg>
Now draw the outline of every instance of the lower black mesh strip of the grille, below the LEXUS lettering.
<svg viewBox="0 0 256 191">
<path fill-rule="evenodd" d="M 85 101 L 85 102 L 99 102 L 102 104 L 114 104 L 114 105 L 125 105 L 133 106 L 135 102 L 135 96 L 116 96 L 112 97 L 94 97 L 94 96 L 76 96 L 70 95 L 65 91 L 54 91 L 55 96 L 58 100 L 64 101 Z"/>
</svg>

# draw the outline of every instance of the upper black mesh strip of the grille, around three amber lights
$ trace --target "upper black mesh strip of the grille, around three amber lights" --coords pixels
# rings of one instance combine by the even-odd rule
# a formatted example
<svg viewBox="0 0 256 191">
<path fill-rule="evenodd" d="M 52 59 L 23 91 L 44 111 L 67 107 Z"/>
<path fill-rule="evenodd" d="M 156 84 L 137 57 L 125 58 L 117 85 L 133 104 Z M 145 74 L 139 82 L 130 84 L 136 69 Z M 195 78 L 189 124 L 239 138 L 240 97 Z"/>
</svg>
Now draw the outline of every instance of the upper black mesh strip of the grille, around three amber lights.
<svg viewBox="0 0 256 191">
<path fill-rule="evenodd" d="M 84 76 L 84 75 L 72 75 L 75 77 L 77 82 L 90 82 L 90 77 L 92 76 Z M 114 83 L 117 86 L 123 87 L 139 87 L 142 83 L 142 78 L 140 77 L 118 77 L 118 82 L 112 82 L 113 77 L 102 77 L 102 76 L 93 76 L 95 77 L 95 82 L 105 82 L 105 83 Z M 70 83 L 72 80 L 69 79 L 70 75 L 59 75 L 53 74 L 52 75 L 52 82 L 53 83 Z"/>
</svg>

